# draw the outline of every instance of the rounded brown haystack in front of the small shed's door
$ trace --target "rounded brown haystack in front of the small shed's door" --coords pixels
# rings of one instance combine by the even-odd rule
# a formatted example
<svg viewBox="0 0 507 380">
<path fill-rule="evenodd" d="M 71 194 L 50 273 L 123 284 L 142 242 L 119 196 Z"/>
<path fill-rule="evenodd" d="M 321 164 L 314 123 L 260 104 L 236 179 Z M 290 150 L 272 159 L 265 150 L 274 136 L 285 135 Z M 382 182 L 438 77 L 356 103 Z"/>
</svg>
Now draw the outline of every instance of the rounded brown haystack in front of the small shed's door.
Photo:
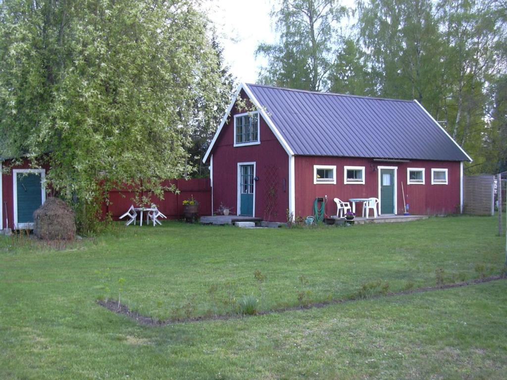
<svg viewBox="0 0 507 380">
<path fill-rule="evenodd" d="M 33 212 L 33 234 L 43 240 L 72 240 L 76 216 L 61 199 L 50 197 Z"/>
</svg>

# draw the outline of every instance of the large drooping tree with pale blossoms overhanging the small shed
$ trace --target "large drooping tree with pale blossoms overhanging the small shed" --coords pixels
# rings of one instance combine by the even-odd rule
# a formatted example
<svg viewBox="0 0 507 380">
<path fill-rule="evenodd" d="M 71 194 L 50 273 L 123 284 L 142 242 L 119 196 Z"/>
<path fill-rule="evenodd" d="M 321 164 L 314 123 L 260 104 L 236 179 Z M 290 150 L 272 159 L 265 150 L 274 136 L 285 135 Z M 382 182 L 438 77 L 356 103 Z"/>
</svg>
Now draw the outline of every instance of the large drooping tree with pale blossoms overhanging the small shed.
<svg viewBox="0 0 507 380">
<path fill-rule="evenodd" d="M 2 1 L 0 155 L 49 163 L 81 230 L 108 186 L 160 195 L 188 172 L 195 99 L 223 91 L 205 27 L 187 0 Z"/>
</svg>

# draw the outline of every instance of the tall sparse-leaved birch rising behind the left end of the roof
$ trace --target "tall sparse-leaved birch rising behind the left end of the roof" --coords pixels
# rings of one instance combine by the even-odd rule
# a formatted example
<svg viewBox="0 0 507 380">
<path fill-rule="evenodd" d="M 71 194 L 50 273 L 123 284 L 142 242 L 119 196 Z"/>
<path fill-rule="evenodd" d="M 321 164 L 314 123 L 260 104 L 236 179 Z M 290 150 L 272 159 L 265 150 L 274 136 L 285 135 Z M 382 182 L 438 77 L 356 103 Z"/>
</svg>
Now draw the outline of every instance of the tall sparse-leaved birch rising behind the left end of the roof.
<svg viewBox="0 0 507 380">
<path fill-rule="evenodd" d="M 271 15 L 279 42 L 261 44 L 257 49 L 257 54 L 268 58 L 260 81 L 303 90 L 327 89 L 338 21 L 344 13 L 335 0 L 282 0 Z"/>
</svg>

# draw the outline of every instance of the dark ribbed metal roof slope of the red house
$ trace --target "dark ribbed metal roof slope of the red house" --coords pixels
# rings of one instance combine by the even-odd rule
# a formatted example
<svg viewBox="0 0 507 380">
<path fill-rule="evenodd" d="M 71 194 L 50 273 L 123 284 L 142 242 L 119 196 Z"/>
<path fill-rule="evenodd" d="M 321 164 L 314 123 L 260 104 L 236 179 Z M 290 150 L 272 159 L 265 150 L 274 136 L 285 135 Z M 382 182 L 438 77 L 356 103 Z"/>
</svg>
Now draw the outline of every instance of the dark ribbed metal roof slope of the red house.
<svg viewBox="0 0 507 380">
<path fill-rule="evenodd" d="M 295 155 L 470 161 L 413 100 L 247 87 Z"/>
</svg>

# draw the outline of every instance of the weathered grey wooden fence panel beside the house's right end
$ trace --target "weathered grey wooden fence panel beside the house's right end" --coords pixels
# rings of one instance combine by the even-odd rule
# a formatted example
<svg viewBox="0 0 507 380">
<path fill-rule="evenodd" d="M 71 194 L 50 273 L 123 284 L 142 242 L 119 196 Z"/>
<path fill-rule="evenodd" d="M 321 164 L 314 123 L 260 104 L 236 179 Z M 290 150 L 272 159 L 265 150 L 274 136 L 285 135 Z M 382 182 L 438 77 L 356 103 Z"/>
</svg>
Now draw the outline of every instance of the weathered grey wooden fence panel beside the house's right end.
<svg viewBox="0 0 507 380">
<path fill-rule="evenodd" d="M 474 175 L 463 178 L 463 212 L 472 215 L 494 214 L 494 177 Z"/>
</svg>

